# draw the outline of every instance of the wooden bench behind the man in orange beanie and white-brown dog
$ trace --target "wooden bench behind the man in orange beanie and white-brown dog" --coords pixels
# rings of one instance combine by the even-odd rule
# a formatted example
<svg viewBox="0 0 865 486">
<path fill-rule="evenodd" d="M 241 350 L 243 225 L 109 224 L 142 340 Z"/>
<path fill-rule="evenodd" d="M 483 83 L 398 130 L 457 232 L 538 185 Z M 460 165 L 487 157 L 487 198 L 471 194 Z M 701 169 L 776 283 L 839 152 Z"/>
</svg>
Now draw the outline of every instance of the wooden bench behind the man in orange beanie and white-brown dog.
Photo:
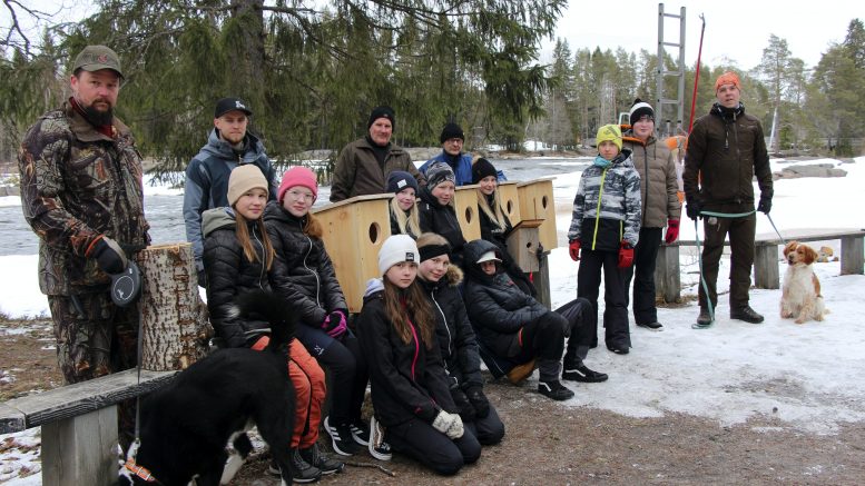
<svg viewBox="0 0 865 486">
<path fill-rule="evenodd" d="M 782 231 L 785 241 L 832 241 L 841 240 L 841 275 L 863 275 L 865 269 L 865 229 L 789 229 Z M 725 245 L 729 245 L 726 241 Z M 760 234 L 755 238 L 754 285 L 757 288 L 780 288 L 778 251 L 784 242 L 776 234 Z M 661 244 L 655 269 L 656 294 L 666 302 L 680 298 L 681 280 L 679 247 L 696 246 L 694 240 Z M 702 241 L 700 241 L 702 246 Z"/>
</svg>

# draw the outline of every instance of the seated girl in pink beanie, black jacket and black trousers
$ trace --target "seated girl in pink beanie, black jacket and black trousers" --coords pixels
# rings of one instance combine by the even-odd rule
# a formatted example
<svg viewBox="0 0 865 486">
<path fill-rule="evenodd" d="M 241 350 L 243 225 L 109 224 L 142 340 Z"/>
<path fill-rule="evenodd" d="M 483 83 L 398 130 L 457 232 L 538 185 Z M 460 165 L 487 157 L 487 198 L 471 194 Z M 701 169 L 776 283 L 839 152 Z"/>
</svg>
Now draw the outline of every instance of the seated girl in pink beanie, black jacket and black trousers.
<svg viewBox="0 0 865 486">
<path fill-rule="evenodd" d="M 318 194 L 315 173 L 294 167 L 283 175 L 277 200 L 267 205 L 267 230 L 279 257 L 275 290 L 298 310 L 297 339 L 333 374 L 331 413 L 324 427 L 337 454 L 352 456 L 368 445 L 361 419 L 366 393 L 366 363 L 347 328 L 347 304 L 322 241 L 321 222 L 309 212 Z"/>
</svg>

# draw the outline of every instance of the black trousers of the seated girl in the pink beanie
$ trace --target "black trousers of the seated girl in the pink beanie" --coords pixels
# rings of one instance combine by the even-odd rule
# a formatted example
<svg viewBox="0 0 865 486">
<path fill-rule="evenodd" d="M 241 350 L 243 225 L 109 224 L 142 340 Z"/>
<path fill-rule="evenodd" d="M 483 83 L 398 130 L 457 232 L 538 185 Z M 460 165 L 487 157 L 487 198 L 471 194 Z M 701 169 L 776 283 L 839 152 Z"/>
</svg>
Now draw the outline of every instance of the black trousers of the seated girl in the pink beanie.
<svg viewBox="0 0 865 486">
<path fill-rule="evenodd" d="M 324 330 L 306 325 L 298 325 L 296 334 L 322 368 L 331 371 L 330 423 L 360 423 L 370 371 L 357 338 L 346 330 L 340 339 L 334 339 Z"/>
</svg>

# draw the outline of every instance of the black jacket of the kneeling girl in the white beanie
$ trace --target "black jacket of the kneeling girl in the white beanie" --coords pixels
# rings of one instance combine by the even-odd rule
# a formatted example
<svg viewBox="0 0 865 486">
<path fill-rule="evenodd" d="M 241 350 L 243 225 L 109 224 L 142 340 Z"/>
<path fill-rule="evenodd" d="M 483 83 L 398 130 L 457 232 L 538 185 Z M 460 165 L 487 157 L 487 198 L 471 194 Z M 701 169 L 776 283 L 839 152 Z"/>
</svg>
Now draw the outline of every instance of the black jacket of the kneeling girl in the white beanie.
<svg viewBox="0 0 865 486">
<path fill-rule="evenodd" d="M 357 318 L 361 350 L 375 357 L 368 360 L 375 416 L 389 427 L 412 419 L 432 424 L 441 409 L 456 413 L 439 346 L 427 349 L 419 333 L 403 343 L 384 313 L 383 295 L 367 292 Z"/>
</svg>

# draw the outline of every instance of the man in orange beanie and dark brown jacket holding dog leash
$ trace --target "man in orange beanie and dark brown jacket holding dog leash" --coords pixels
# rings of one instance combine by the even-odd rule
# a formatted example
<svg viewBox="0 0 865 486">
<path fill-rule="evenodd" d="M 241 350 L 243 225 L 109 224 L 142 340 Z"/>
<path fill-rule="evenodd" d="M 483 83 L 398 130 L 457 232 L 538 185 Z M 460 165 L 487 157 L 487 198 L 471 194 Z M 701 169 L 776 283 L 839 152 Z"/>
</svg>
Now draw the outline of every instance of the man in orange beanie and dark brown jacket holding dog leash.
<svg viewBox="0 0 865 486">
<path fill-rule="evenodd" d="M 754 239 L 757 217 L 754 210 L 754 176 L 760 189 L 757 210 L 771 209 L 771 170 L 763 126 L 745 113 L 739 101 L 741 83 L 731 71 L 715 81 L 717 101 L 700 117 L 688 137 L 685 158 L 686 211 L 694 219 L 704 218 L 702 278 L 699 288 L 700 315 L 697 326 L 708 327 L 718 302 L 716 281 L 724 251 L 730 239 L 730 318 L 763 323 L 763 316 L 748 305 Z M 708 294 L 708 296 L 707 296 Z"/>
</svg>

